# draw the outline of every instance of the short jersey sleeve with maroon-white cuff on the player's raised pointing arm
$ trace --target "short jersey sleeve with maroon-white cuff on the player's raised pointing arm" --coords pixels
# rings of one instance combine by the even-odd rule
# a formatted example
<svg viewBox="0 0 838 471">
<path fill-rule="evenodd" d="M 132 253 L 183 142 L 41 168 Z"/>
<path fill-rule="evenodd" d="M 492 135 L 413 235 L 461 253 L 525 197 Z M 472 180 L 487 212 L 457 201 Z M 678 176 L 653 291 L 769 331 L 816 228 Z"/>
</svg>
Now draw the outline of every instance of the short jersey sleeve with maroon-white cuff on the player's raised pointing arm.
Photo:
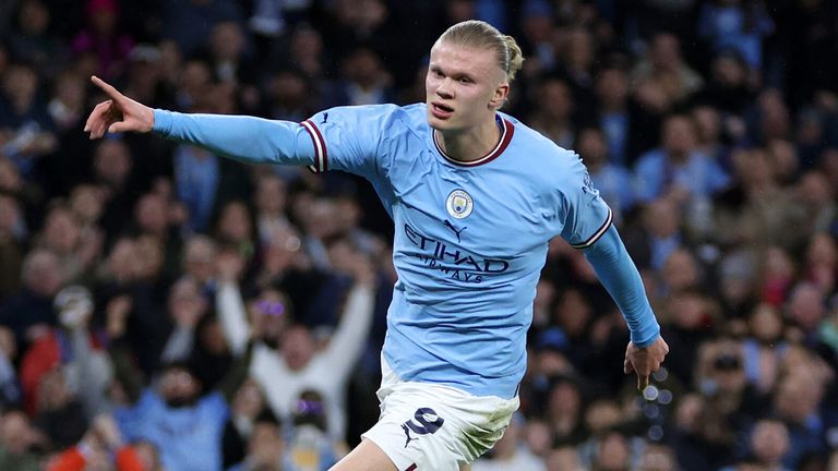
<svg viewBox="0 0 838 471">
<path fill-rule="evenodd" d="M 310 170 L 344 170 L 371 177 L 394 109 L 393 105 L 330 108 L 300 123 L 314 145 Z"/>
</svg>

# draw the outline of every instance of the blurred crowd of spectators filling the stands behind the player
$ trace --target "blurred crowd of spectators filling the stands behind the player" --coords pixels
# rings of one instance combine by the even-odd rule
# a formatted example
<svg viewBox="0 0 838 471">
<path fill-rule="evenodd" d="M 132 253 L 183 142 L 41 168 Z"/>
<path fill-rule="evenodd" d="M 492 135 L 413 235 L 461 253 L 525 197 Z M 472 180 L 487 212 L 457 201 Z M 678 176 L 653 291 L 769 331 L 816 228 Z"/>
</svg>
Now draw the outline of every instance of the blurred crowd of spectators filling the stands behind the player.
<svg viewBox="0 0 838 471">
<path fill-rule="evenodd" d="M 555 240 L 520 411 L 474 471 L 838 470 L 834 0 L 0 2 L 0 469 L 325 470 L 357 444 L 395 281 L 374 191 L 91 142 L 88 77 L 301 121 L 423 100 L 467 19 L 518 39 L 504 110 L 582 156 L 671 346 L 638 392 Z"/>
</svg>

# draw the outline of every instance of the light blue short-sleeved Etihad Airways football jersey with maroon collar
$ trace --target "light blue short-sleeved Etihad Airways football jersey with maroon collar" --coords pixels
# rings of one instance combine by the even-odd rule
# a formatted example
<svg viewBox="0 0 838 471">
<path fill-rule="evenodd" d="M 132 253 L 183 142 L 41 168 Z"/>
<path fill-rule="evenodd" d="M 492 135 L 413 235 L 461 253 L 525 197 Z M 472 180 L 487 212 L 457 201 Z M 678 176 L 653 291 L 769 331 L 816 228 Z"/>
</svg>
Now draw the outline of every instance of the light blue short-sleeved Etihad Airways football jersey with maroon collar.
<svg viewBox="0 0 838 471">
<path fill-rule="evenodd" d="M 302 123 L 314 171 L 368 179 L 395 224 L 398 281 L 383 354 L 405 381 L 515 396 L 548 242 L 577 247 L 611 225 L 579 157 L 499 113 L 501 141 L 458 162 L 423 104 L 343 107 Z"/>
</svg>

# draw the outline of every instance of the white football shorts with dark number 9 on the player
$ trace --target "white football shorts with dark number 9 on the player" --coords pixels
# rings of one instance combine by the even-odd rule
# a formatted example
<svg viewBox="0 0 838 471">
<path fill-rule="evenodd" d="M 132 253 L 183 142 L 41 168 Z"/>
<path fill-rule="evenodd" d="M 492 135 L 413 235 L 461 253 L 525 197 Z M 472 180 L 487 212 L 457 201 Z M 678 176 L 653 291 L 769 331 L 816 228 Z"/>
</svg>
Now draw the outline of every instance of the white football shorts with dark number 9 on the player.
<svg viewBox="0 0 838 471">
<path fill-rule="evenodd" d="M 472 396 L 450 386 L 402 381 L 381 359 L 379 422 L 362 438 L 398 471 L 458 471 L 501 439 L 517 396 Z"/>
</svg>

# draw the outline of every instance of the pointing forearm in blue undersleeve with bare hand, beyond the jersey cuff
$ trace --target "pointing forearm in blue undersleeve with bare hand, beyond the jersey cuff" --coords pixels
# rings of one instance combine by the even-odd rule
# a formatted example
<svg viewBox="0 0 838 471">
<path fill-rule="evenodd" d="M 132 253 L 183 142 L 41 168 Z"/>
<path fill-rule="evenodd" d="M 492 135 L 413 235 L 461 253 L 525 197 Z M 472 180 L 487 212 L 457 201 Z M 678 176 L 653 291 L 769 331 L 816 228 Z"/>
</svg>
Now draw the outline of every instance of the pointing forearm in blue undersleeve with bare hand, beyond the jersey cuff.
<svg viewBox="0 0 838 471">
<path fill-rule="evenodd" d="M 246 116 L 185 114 L 155 110 L 92 77 L 109 97 L 87 118 L 91 138 L 106 133 L 155 132 L 213 153 L 252 164 L 314 165 L 314 143 L 301 124 Z"/>
</svg>

